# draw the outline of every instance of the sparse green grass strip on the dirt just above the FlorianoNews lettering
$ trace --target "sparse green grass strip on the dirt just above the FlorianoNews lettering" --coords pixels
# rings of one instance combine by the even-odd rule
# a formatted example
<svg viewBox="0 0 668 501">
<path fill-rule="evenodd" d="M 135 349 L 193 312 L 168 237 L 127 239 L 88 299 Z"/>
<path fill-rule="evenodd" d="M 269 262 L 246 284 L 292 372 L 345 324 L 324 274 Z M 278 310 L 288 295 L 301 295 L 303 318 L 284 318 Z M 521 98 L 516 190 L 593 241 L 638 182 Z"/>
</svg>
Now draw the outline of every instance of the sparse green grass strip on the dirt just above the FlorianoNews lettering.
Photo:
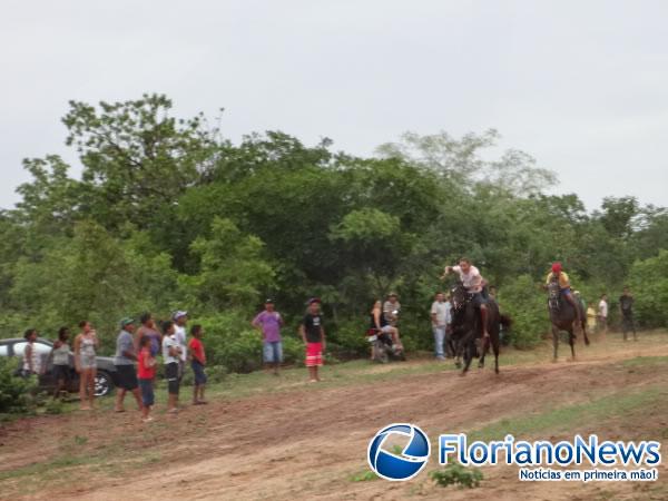
<svg viewBox="0 0 668 501">
<path fill-rule="evenodd" d="M 665 386 L 651 386 L 641 391 L 617 393 L 591 402 L 566 405 L 538 414 L 502 419 L 469 434 L 473 440 L 503 440 L 507 434 L 514 436 L 572 431 L 576 426 L 595 424 L 602 420 L 622 418 L 668 396 Z"/>
</svg>

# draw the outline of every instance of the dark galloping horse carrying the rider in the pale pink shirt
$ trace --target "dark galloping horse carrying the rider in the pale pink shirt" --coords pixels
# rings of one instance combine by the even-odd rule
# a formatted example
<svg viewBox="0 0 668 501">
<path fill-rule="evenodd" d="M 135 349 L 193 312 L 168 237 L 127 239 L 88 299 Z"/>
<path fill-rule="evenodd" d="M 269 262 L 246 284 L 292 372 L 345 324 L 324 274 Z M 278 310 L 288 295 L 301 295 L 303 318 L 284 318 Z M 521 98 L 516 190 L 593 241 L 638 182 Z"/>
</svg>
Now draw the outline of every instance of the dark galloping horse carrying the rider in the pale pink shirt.
<svg viewBox="0 0 668 501">
<path fill-rule="evenodd" d="M 480 312 L 471 302 L 472 295 L 466 292 L 465 287 L 459 282 L 451 291 L 452 294 L 452 334 L 451 338 L 454 344 L 454 353 L 459 358 L 463 355 L 464 367 L 462 369 L 462 375 L 464 375 L 471 366 L 471 361 L 477 353 L 475 341 L 481 340 L 480 343 L 480 360 L 478 363 L 479 367 L 484 366 L 484 356 L 488 352 L 489 344 L 492 346 L 494 352 L 494 372 L 499 374 L 499 344 L 500 344 L 500 326 L 510 325 L 510 318 L 499 313 L 499 305 L 495 301 L 488 301 L 488 333 L 489 338 L 482 336 L 482 323 L 480 321 Z M 459 366 L 459 365 L 458 365 Z"/>
</svg>

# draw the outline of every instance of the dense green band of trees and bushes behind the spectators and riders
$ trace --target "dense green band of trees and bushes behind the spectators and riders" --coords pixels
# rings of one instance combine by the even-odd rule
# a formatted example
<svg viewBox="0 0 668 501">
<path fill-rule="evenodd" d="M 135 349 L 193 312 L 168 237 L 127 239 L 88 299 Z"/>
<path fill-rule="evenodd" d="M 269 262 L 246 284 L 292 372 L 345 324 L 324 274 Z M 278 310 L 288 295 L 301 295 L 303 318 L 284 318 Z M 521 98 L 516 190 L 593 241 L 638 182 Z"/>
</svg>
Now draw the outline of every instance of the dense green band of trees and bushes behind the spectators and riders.
<svg viewBox="0 0 668 501">
<path fill-rule="evenodd" d="M 668 213 L 625 197 L 590 214 L 576 195 L 548 195 L 556 177 L 529 155 L 489 159 L 494 130 L 409 134 L 360 158 L 278 131 L 233 144 L 205 117 L 170 111 L 157 95 L 70 102 L 62 121 L 82 176 L 56 155 L 24 160 L 32 180 L 0 215 L 4 335 L 36 325 L 53 336 L 86 317 L 109 352 L 120 317 L 187 308 L 214 362 L 246 371 L 259 361 L 249 321 L 264 297 L 288 321 L 289 357 L 314 295 L 347 356 L 364 352 L 371 305 L 394 289 L 406 345 L 429 348 L 439 275 L 462 255 L 499 287 L 519 346 L 547 331 L 539 284 L 556 259 L 589 302 L 608 292 L 615 312 L 629 282 L 639 321 L 668 325 Z"/>
</svg>

